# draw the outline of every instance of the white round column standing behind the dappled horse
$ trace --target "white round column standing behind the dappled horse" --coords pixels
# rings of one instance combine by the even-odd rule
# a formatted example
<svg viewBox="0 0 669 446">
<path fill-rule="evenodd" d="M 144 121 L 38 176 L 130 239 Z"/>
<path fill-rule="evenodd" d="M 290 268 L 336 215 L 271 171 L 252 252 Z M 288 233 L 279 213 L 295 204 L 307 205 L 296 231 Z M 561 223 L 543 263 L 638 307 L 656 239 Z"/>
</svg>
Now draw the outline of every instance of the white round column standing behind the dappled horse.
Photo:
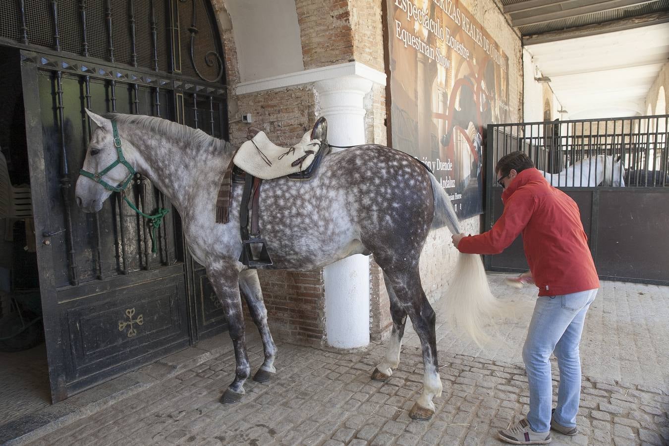
<svg viewBox="0 0 669 446">
<path fill-rule="evenodd" d="M 371 80 L 361 76 L 316 82 L 320 116 L 328 120 L 330 144 L 352 146 L 365 143 L 363 98 L 372 84 Z M 356 254 L 332 263 L 325 267 L 323 277 L 328 344 L 339 348 L 369 344 L 369 257 Z"/>
</svg>

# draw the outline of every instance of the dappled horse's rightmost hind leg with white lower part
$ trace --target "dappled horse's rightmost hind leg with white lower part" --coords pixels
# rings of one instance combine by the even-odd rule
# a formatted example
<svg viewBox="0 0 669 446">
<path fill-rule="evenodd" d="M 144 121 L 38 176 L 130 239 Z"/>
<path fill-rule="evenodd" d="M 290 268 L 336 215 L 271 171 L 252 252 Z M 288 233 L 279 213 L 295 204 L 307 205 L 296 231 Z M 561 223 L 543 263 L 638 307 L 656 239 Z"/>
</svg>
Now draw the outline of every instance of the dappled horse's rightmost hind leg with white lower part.
<svg viewBox="0 0 669 446">
<path fill-rule="evenodd" d="M 386 271 L 384 270 L 384 274 Z M 409 412 L 415 420 L 427 420 L 434 415 L 432 399 L 442 395 L 442 380 L 437 362 L 437 341 L 434 332 L 435 314 L 427 302 L 420 282 L 417 265 L 403 271 L 391 271 L 387 275 L 399 304 L 409 315 L 413 329 L 420 338 L 423 350 L 423 393 Z"/>
</svg>

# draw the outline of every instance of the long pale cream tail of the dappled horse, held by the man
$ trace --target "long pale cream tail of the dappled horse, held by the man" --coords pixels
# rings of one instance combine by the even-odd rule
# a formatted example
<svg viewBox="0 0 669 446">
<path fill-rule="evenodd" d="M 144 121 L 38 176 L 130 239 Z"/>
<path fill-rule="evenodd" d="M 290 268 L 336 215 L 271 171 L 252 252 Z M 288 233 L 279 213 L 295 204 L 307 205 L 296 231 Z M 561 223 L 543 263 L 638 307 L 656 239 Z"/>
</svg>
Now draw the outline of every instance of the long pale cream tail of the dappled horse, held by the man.
<svg viewBox="0 0 669 446">
<path fill-rule="evenodd" d="M 434 175 L 429 175 L 429 179 L 434 195 L 432 229 L 448 226 L 451 233 L 461 233 L 458 217 L 446 191 Z M 490 292 L 480 255 L 460 253 L 451 277 L 448 294 L 436 306 L 438 312 L 447 314 L 452 324 L 460 326 L 477 344 L 482 344 L 488 340 L 484 325 L 499 316 L 502 308 Z"/>
</svg>

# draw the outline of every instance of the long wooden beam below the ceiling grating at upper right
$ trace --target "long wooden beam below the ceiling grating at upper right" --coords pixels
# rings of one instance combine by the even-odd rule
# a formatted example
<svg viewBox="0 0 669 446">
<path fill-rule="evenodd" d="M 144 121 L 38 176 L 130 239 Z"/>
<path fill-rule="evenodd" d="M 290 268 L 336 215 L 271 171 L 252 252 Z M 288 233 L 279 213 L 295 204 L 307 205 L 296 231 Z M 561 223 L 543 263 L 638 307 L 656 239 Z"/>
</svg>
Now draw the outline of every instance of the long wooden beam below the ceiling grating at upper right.
<svg viewBox="0 0 669 446">
<path fill-rule="evenodd" d="M 535 45 L 537 43 L 547 43 L 559 40 L 575 39 L 577 37 L 586 37 L 588 35 L 597 35 L 612 33 L 614 31 L 624 31 L 625 29 L 634 29 L 642 26 L 657 25 L 658 23 L 669 22 L 669 12 L 652 13 L 632 17 L 630 19 L 611 20 L 597 25 L 585 25 L 560 31 L 550 31 L 535 35 L 525 35 L 522 37 L 522 45 Z"/>
</svg>

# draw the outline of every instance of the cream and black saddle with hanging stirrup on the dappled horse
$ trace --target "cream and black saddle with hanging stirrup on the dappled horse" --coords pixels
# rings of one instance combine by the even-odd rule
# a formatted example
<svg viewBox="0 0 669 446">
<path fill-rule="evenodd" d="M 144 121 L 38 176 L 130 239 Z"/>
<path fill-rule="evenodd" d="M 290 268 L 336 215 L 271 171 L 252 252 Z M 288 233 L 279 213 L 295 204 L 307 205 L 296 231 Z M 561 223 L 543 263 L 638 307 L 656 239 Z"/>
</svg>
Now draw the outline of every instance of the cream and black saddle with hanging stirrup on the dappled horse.
<svg viewBox="0 0 669 446">
<path fill-rule="evenodd" d="M 240 255 L 240 262 L 247 267 L 255 268 L 272 265 L 266 241 L 260 236 L 260 227 L 258 225 L 260 185 L 262 184 L 262 180 L 281 177 L 287 177 L 294 181 L 307 181 L 311 179 L 318 170 L 318 166 L 320 166 L 323 158 L 332 150 L 327 142 L 327 129 L 328 124 L 325 118 L 318 118 L 311 133 L 304 134 L 302 140 L 292 148 L 276 146 L 260 130 L 249 129 L 248 136 L 250 136 L 250 140 L 244 143 L 248 144 L 245 152 L 252 154 L 251 156 L 254 161 L 248 162 L 248 160 L 245 161 L 242 157 L 240 158 L 240 162 L 237 162 L 239 152 L 237 152 L 233 160 L 235 164 L 233 181 L 244 182 L 242 206 L 240 207 L 240 234 L 242 235 L 242 255 Z M 262 135 L 258 137 L 261 133 Z M 242 147 L 244 144 L 242 144 Z M 242 147 L 240 147 L 240 151 Z M 258 162 L 259 158 L 264 159 L 263 155 L 268 158 L 270 164 L 266 161 L 262 163 Z M 288 160 L 291 160 L 290 164 L 284 162 L 280 169 L 272 169 L 272 165 L 274 165 L 272 160 L 276 158 L 276 160 L 280 161 L 279 156 L 281 155 L 284 155 L 282 158 L 288 156 Z M 286 174 L 286 169 L 290 169 L 289 165 L 292 168 L 298 166 L 298 171 Z M 249 170 L 242 169 L 242 166 L 247 166 Z M 278 175 L 280 172 L 283 175 Z M 256 176 L 254 173 L 260 176 Z"/>
</svg>

